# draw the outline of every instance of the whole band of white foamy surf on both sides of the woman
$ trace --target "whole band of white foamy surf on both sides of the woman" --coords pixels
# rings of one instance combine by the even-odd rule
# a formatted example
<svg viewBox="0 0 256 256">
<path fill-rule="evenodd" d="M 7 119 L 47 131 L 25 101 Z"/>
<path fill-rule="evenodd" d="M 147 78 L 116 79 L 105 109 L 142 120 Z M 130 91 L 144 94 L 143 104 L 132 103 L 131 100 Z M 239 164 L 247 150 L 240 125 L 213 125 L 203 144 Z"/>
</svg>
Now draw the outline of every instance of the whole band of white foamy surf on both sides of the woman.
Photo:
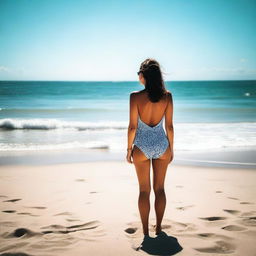
<svg viewBox="0 0 256 256">
<path fill-rule="evenodd" d="M 125 150 L 127 128 L 128 121 L 0 119 L 0 151 L 107 148 L 121 152 Z M 11 132 L 5 134 L 4 130 Z M 20 133 L 19 130 L 27 131 Z M 84 130 L 88 132 L 80 132 Z M 206 152 L 215 149 L 256 150 L 255 131 L 256 122 L 174 123 L 174 148 Z"/>
</svg>

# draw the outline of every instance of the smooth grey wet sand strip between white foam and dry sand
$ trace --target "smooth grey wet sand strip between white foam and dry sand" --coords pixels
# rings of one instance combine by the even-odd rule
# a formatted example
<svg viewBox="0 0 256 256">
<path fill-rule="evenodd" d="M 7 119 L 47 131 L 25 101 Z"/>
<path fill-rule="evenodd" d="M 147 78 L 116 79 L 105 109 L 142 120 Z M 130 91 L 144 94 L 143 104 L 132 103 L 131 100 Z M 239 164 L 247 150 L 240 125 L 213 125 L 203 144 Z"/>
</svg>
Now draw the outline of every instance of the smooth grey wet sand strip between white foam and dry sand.
<svg viewBox="0 0 256 256">
<path fill-rule="evenodd" d="M 223 168 L 245 168 L 256 170 L 256 150 L 223 150 L 174 152 L 172 165 L 212 166 Z M 51 151 L 2 151 L 0 166 L 9 165 L 53 165 L 87 162 L 126 162 L 125 152 L 109 152 L 106 149 L 75 149 Z M 128 162 L 127 162 L 128 164 Z"/>
</svg>

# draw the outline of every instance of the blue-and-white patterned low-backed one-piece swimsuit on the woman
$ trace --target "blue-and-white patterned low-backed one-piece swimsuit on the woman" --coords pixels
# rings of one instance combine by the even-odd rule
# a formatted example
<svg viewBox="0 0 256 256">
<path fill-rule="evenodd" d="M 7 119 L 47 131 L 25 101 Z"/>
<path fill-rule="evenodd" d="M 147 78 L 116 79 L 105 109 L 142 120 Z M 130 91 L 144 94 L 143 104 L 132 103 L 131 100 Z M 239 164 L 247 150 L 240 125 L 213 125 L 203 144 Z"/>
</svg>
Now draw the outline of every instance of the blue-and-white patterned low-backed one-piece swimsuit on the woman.
<svg viewBox="0 0 256 256">
<path fill-rule="evenodd" d="M 169 141 L 163 129 L 164 116 L 161 121 L 151 127 L 145 124 L 140 117 L 133 144 L 136 145 L 148 159 L 159 158 L 168 148 Z"/>
</svg>

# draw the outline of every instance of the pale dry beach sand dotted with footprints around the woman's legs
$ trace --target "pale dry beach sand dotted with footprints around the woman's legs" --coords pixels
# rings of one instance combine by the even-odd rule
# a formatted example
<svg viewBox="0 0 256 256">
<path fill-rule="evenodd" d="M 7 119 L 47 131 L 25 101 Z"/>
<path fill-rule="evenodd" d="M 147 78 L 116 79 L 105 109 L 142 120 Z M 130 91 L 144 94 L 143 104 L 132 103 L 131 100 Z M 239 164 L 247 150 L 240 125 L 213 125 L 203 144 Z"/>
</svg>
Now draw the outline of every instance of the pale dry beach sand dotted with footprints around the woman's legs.
<svg viewBox="0 0 256 256">
<path fill-rule="evenodd" d="M 146 239 L 132 164 L 10 165 L 0 175 L 0 255 L 256 255 L 252 169 L 170 164 L 163 233 L 154 235 L 152 190 Z"/>
</svg>

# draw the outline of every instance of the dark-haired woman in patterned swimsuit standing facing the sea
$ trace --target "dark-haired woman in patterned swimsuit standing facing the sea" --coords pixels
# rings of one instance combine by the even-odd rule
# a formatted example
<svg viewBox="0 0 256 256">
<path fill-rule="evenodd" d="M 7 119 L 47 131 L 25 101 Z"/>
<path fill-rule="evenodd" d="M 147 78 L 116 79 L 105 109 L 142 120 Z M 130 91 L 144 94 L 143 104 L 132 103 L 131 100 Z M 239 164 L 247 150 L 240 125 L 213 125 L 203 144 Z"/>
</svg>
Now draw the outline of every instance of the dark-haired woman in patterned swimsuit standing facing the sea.
<svg viewBox="0 0 256 256">
<path fill-rule="evenodd" d="M 135 165 L 140 190 L 138 199 L 140 217 L 143 233 L 148 236 L 151 159 L 154 176 L 156 235 L 161 232 L 161 222 L 166 206 L 165 174 L 168 164 L 173 159 L 173 101 L 171 92 L 165 89 L 160 65 L 156 60 L 146 59 L 142 62 L 138 75 L 145 89 L 130 94 L 126 159 Z M 166 133 L 162 125 L 164 117 Z"/>
</svg>

